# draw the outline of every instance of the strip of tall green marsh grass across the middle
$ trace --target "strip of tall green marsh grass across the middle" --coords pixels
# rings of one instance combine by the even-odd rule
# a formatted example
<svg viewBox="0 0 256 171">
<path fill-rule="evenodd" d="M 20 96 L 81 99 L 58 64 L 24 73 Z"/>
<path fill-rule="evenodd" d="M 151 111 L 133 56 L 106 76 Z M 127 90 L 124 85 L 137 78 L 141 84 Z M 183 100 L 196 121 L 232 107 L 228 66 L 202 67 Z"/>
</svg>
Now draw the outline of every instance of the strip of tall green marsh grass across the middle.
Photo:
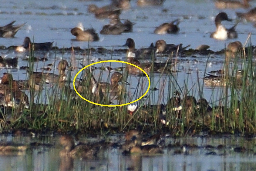
<svg viewBox="0 0 256 171">
<path fill-rule="evenodd" d="M 55 51 L 56 54 L 56 51 Z M 83 56 L 84 61 L 82 63 L 88 63 L 91 52 L 85 50 Z M 239 59 L 242 55 L 243 59 Z M 247 58 L 244 58 L 244 54 L 237 54 L 231 63 L 225 61 L 225 86 L 213 87 L 217 89 L 213 91 L 217 93 L 211 95 L 210 104 L 213 106 L 211 113 L 198 113 L 196 112 L 196 105 L 192 106 L 193 114 L 191 118 L 187 118 L 185 101 L 181 101 L 182 110 L 175 111 L 172 108 L 166 109 L 166 120 L 168 124 L 163 125 L 160 122 L 160 103 L 168 103 L 169 99 L 173 97 L 175 91 L 181 92 L 181 97 L 185 99 L 187 96 L 195 96 L 197 99 L 204 98 L 203 89 L 204 84 L 199 81 L 197 74 L 197 80 L 192 85 L 192 88 L 188 88 L 188 80 L 190 75 L 187 74 L 184 79 L 184 84 L 179 85 L 178 73 L 164 73 L 159 74 L 151 71 L 148 75 L 151 80 L 151 87 L 146 97 L 135 102 L 138 106 L 137 110 L 129 115 L 126 106 L 121 107 L 102 107 L 89 103 L 75 93 L 73 89 L 73 75 L 79 71 L 79 63 L 75 63 L 74 56 L 71 56 L 70 68 L 67 72 L 67 82 L 54 83 L 53 85 L 43 84 L 39 91 L 36 91 L 33 86 L 30 90 L 24 91 L 30 94 L 30 106 L 29 109 L 20 110 L 19 108 L 13 108 L 11 115 L 13 119 L 11 121 L 6 120 L 7 112 L 2 111 L 3 119 L 0 119 L 0 130 L 5 131 L 8 129 L 25 129 L 34 131 L 47 131 L 53 130 L 58 132 L 81 132 L 89 134 L 107 134 L 108 132 L 117 133 L 129 129 L 138 129 L 148 132 L 168 132 L 175 136 L 181 135 L 193 135 L 199 134 L 201 131 L 211 132 L 229 132 L 229 133 L 248 133 L 255 134 L 256 130 L 256 84 L 255 84 L 255 64 L 253 63 L 252 52 L 247 52 Z M 30 52 L 30 60 L 28 66 L 30 72 L 36 69 L 34 62 L 34 52 Z M 111 57 L 112 59 L 112 57 Z M 172 70 L 179 70 L 177 58 L 175 58 Z M 239 65 L 239 61 L 242 61 L 243 65 Z M 57 65 L 55 55 L 55 66 Z M 206 62 L 207 66 L 208 60 Z M 243 70 L 241 79 L 234 79 L 236 73 L 239 70 Z M 86 87 L 82 92 L 79 92 L 86 99 L 93 99 L 95 95 L 91 93 L 90 77 L 85 73 L 86 70 L 79 76 L 80 80 L 83 80 L 83 85 Z M 102 79 L 103 72 L 100 71 L 97 81 Z M 206 68 L 204 73 L 206 72 Z M 53 71 L 58 74 L 58 71 Z M 123 76 L 127 82 L 131 80 L 131 76 L 127 72 L 123 71 Z M 92 75 L 94 72 L 92 72 Z M 108 73 L 107 82 L 109 82 L 111 73 Z M 205 75 L 204 75 L 205 76 Z M 140 97 L 144 94 L 145 81 L 147 78 L 143 76 L 136 77 L 137 85 L 133 85 L 135 90 L 133 94 L 129 86 L 124 85 L 122 87 L 122 93 L 116 100 L 117 103 L 127 103 L 134 98 Z M 76 80 L 78 84 L 79 79 Z M 158 93 L 153 90 L 154 87 L 158 87 Z M 127 93 L 125 93 L 127 92 Z M 167 94 L 167 97 L 164 95 Z M 214 97 L 217 97 L 214 99 Z M 102 104 L 109 104 L 111 100 L 109 98 L 102 99 Z M 152 105 L 156 102 L 155 105 Z M 217 107 L 214 107 L 217 106 Z"/>
</svg>

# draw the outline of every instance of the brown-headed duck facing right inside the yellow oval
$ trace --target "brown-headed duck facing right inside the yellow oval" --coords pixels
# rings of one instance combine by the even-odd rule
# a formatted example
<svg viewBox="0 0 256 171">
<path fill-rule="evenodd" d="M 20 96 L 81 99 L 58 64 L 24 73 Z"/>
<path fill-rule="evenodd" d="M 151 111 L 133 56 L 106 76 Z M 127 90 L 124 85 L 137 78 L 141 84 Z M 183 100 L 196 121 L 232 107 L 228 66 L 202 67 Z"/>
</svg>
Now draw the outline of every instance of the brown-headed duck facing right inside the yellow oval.
<svg viewBox="0 0 256 171">
<path fill-rule="evenodd" d="M 118 95 L 120 92 L 119 82 L 125 82 L 127 85 L 130 85 L 128 82 L 124 80 L 123 75 L 120 72 L 114 72 L 111 75 L 110 83 L 108 82 L 100 82 L 99 86 L 103 93 L 109 92 L 114 96 Z"/>
</svg>

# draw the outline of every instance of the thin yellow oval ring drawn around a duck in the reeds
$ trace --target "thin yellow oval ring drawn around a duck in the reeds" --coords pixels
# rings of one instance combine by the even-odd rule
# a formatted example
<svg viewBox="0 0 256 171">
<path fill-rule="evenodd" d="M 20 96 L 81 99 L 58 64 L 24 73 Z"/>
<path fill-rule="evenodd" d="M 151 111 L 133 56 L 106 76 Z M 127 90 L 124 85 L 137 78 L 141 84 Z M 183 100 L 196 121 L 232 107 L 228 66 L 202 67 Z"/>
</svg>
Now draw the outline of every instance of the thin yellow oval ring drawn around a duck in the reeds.
<svg viewBox="0 0 256 171">
<path fill-rule="evenodd" d="M 102 105 L 102 104 L 94 103 L 94 102 L 92 102 L 92 101 L 89 101 L 89 100 L 83 98 L 83 97 L 77 92 L 77 90 L 75 89 L 75 78 L 77 77 L 77 75 L 78 75 L 82 70 L 86 69 L 87 67 L 90 67 L 91 65 L 94 65 L 94 64 L 97 64 L 97 63 L 103 63 L 103 62 L 121 62 L 121 63 L 126 63 L 126 64 L 133 65 L 134 67 L 140 69 L 142 72 L 144 72 L 144 74 L 146 74 L 146 76 L 147 76 L 147 78 L 148 78 L 148 83 L 149 83 L 149 84 L 148 84 L 148 89 L 147 89 L 147 91 L 146 91 L 140 98 L 138 98 L 138 99 L 136 99 L 136 100 L 134 100 L 134 101 L 132 101 L 132 102 L 125 103 L 125 104 L 121 104 L 121 105 Z M 141 98 L 143 98 L 143 97 L 147 94 L 147 92 L 149 91 L 149 88 L 150 88 L 150 79 L 149 79 L 149 77 L 148 77 L 148 74 L 147 74 L 143 69 L 141 69 L 140 67 L 138 67 L 138 66 L 136 66 L 136 65 L 134 65 L 134 64 L 132 64 L 132 63 L 125 62 L 125 61 L 117 61 L 117 60 L 107 60 L 107 61 L 94 62 L 94 63 L 92 63 L 92 64 L 90 64 L 90 65 L 85 66 L 85 67 L 82 68 L 80 71 L 78 71 L 78 73 L 75 75 L 74 80 L 73 80 L 73 87 L 74 87 L 75 92 L 76 92 L 82 99 L 84 99 L 85 101 L 88 101 L 88 102 L 90 102 L 90 103 L 92 103 L 92 104 L 94 104 L 94 105 L 99 105 L 99 106 L 118 107 L 118 106 L 129 105 L 129 104 L 134 103 L 134 102 L 140 100 Z"/>
</svg>

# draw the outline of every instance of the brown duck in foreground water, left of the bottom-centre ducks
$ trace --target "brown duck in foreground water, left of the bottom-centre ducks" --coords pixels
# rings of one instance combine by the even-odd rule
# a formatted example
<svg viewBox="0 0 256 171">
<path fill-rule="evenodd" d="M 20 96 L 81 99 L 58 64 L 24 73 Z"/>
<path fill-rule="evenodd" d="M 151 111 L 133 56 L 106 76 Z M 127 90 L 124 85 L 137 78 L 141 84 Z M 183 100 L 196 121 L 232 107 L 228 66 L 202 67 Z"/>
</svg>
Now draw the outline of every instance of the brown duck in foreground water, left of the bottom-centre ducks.
<svg viewBox="0 0 256 171">
<path fill-rule="evenodd" d="M 60 156 L 69 157 L 81 157 L 81 158 L 92 158 L 96 156 L 100 147 L 89 146 L 89 145 L 77 145 L 72 136 L 65 135 L 60 137 L 60 144 L 63 146 L 63 150 L 60 152 Z"/>
</svg>

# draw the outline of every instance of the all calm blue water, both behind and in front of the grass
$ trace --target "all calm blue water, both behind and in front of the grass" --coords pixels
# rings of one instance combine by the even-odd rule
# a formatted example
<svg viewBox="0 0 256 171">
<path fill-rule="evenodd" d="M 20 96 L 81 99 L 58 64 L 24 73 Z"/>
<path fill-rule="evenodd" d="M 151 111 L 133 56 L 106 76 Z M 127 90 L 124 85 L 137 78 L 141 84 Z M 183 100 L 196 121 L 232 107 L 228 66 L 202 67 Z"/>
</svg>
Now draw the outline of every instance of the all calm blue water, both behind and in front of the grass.
<svg viewBox="0 0 256 171">
<path fill-rule="evenodd" d="M 17 0 L 7 1 L 2 0 L 0 6 L 0 25 L 3 26 L 16 20 L 16 24 L 26 23 L 20 31 L 16 34 L 14 39 L 0 38 L 0 45 L 11 46 L 21 45 L 24 37 L 34 37 L 35 42 L 52 42 L 56 43 L 59 48 L 80 46 L 81 48 L 87 48 L 88 42 L 74 41 L 75 37 L 71 35 L 70 30 L 76 26 L 79 22 L 84 24 L 85 28 L 93 27 L 98 33 L 103 25 L 109 23 L 108 19 L 98 20 L 92 14 L 87 13 L 87 7 L 90 4 L 97 4 L 103 6 L 109 4 L 110 1 L 31 1 L 31 0 Z M 255 7 L 256 2 L 252 1 L 251 5 Z M 99 42 L 91 42 L 90 47 L 98 48 L 104 47 L 107 49 L 122 49 L 120 45 L 123 45 L 127 38 L 133 38 L 136 43 L 136 48 L 148 47 L 151 42 L 156 42 L 159 39 L 164 39 L 167 43 L 179 44 L 183 43 L 185 46 L 191 44 L 191 48 L 195 49 L 201 44 L 207 44 L 211 50 L 218 51 L 225 47 L 230 41 L 241 41 L 244 43 L 249 33 L 252 33 L 251 43 L 256 44 L 255 34 L 256 29 L 251 23 L 241 22 L 238 24 L 236 30 L 239 33 L 237 39 L 227 41 L 217 41 L 210 39 L 210 33 L 215 30 L 214 18 L 216 14 L 221 12 L 214 7 L 213 1 L 169 1 L 166 0 L 163 6 L 139 8 L 136 6 L 134 0 L 131 1 L 131 9 L 122 12 L 121 19 L 129 19 L 131 22 L 136 23 L 134 25 L 134 31 L 132 33 L 123 33 L 121 35 L 100 35 Z M 167 9 L 167 12 L 163 12 L 163 9 Z M 231 18 L 235 19 L 235 11 L 245 12 L 243 9 L 238 10 L 224 10 Z M 156 26 L 170 22 L 175 19 L 181 19 L 179 25 L 180 32 L 178 34 L 157 35 L 153 34 Z M 227 28 L 233 26 L 233 22 L 223 22 Z M 18 59 L 18 67 L 8 69 L 14 76 L 14 79 L 25 79 L 26 72 L 19 70 L 21 66 L 26 66 L 27 61 L 22 59 L 27 55 L 26 53 L 16 53 L 14 51 L 1 50 L 0 54 L 6 56 L 6 58 Z M 36 54 L 42 57 L 44 54 Z M 82 62 L 83 56 L 78 52 L 75 52 L 73 56 L 74 60 L 71 60 L 72 55 L 70 51 L 64 53 L 50 52 L 47 55 L 49 59 L 46 62 L 35 62 L 34 68 L 41 68 L 49 63 L 56 63 L 60 59 L 64 58 L 68 62 L 71 61 L 73 66 L 79 66 Z M 97 61 L 98 58 L 102 60 L 116 59 L 125 60 L 125 53 L 114 54 L 92 54 L 90 60 Z M 207 56 L 197 56 L 197 58 L 180 58 L 183 62 L 177 64 L 177 69 L 181 72 L 174 74 L 174 77 L 178 78 L 178 83 L 183 89 L 184 82 L 186 82 L 187 89 L 191 89 L 191 94 L 197 94 L 197 72 L 199 75 L 199 84 L 202 85 L 203 72 L 218 70 L 223 66 L 223 55 L 211 55 L 210 64 L 207 64 Z M 160 59 L 158 59 L 160 60 Z M 164 59 L 166 60 L 166 59 Z M 106 64 L 107 65 L 107 64 Z M 110 64 L 109 64 L 110 65 Z M 239 63 L 241 65 L 241 62 Z M 112 63 L 112 67 L 120 67 L 120 63 Z M 79 66 L 80 67 L 80 66 Z M 56 67 L 55 67 L 56 69 Z M 0 75 L 7 70 L 5 68 L 0 69 Z M 39 70 L 41 71 L 41 70 Z M 78 71 L 78 70 L 77 70 Z M 77 72 L 74 71 L 74 74 Z M 97 77 L 97 73 L 96 77 Z M 105 72 L 105 75 L 108 73 Z M 155 75 L 155 79 L 151 80 L 151 88 L 160 89 L 164 85 L 168 85 L 168 75 L 159 77 Z M 160 82 L 158 81 L 160 79 Z M 128 80 L 131 86 L 127 88 L 130 94 L 133 94 L 138 78 L 135 76 L 129 76 Z M 147 84 L 145 84 L 147 88 Z M 48 90 L 48 89 L 46 89 Z M 145 89 L 144 89 L 145 90 Z M 220 90 L 211 88 L 204 88 L 204 97 L 207 100 L 216 101 L 219 97 Z M 158 93 L 156 96 L 164 98 L 157 101 L 151 101 L 152 103 L 166 103 L 168 94 L 168 88 L 165 87 L 164 91 Z M 213 94 L 213 96 L 212 96 Z M 42 97 L 46 98 L 46 97 Z M 198 99 L 199 97 L 196 96 Z M 130 98 L 130 100 L 134 100 Z M 140 101 L 143 103 L 143 101 Z M 2 136 L 1 142 L 14 141 L 18 143 L 29 144 L 30 142 L 40 141 L 42 143 L 50 143 L 53 147 L 39 147 L 31 148 L 22 155 L 0 155 L 0 170 L 59 170 L 61 168 L 61 159 L 59 157 L 60 145 L 57 141 L 58 137 L 43 137 L 40 139 L 34 139 L 31 137 L 9 137 Z M 66 164 L 73 164 L 73 170 L 128 170 L 134 167 L 135 170 L 256 170 L 255 156 L 255 138 L 253 140 L 246 140 L 239 137 L 224 137 L 224 138 L 183 138 L 183 139 L 166 139 L 166 145 L 169 143 L 180 141 L 181 144 L 194 143 L 200 148 L 187 149 L 189 155 L 174 155 L 174 150 L 165 148 L 165 153 L 160 156 L 154 157 L 141 157 L 131 156 L 124 157 L 121 155 L 119 149 L 109 148 L 103 151 L 96 160 L 79 160 L 66 161 Z M 205 145 L 224 145 L 225 148 L 217 150 L 216 148 L 208 150 Z M 236 153 L 233 148 L 237 146 L 244 146 L 246 152 Z M 178 148 L 179 149 L 179 148 Z M 251 150 L 250 150 L 251 149 Z M 215 151 L 217 155 L 205 154 L 210 151 Z M 135 166 L 134 166 L 135 165 Z"/>
</svg>

